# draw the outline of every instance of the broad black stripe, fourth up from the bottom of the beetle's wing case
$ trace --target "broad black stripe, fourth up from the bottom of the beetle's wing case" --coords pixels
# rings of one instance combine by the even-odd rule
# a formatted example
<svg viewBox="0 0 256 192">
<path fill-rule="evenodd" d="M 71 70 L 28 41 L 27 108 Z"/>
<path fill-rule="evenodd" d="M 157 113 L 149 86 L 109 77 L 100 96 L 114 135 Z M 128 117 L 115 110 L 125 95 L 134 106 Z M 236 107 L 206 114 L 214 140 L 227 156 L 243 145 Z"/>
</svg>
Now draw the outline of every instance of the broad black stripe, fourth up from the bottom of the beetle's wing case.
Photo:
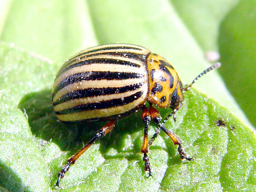
<svg viewBox="0 0 256 192">
<path fill-rule="evenodd" d="M 54 95 L 67 85 L 75 82 L 85 81 L 85 80 L 123 80 L 123 79 L 137 79 L 142 78 L 143 74 L 140 73 L 128 73 L 128 72 L 117 72 L 117 71 L 84 71 L 80 73 L 75 73 L 67 78 L 63 79 L 60 84 L 55 88 Z"/>
</svg>

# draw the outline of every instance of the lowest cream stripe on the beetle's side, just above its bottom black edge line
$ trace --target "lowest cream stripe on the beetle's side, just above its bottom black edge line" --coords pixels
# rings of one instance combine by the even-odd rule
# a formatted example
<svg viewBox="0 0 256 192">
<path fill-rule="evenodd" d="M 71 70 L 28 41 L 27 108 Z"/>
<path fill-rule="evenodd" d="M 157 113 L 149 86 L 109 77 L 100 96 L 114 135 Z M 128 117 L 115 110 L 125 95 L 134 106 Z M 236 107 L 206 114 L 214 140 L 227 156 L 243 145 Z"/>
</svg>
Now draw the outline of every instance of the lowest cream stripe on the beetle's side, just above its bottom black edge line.
<svg viewBox="0 0 256 192">
<path fill-rule="evenodd" d="M 81 111 L 77 113 L 57 115 L 57 118 L 61 121 L 79 121 L 79 120 L 86 120 L 91 118 L 101 118 L 101 117 L 118 115 L 118 114 L 128 112 L 137 106 L 143 105 L 146 101 L 146 97 L 147 97 L 147 92 L 143 92 L 142 97 L 126 105 L 107 108 L 107 109 L 95 109 L 90 111 Z"/>
</svg>

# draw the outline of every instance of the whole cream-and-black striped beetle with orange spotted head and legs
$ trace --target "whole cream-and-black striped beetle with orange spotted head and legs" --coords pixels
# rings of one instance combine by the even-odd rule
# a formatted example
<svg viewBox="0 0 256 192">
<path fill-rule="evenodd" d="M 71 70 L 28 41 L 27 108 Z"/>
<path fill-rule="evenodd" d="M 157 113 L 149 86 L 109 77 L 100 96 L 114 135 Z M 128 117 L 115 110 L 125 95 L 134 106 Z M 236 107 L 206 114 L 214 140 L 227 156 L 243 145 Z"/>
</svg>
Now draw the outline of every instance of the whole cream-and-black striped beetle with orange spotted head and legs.
<svg viewBox="0 0 256 192">
<path fill-rule="evenodd" d="M 152 176 L 147 156 L 148 146 L 163 130 L 178 144 L 181 159 L 191 160 L 182 147 L 181 140 L 163 124 L 183 104 L 183 94 L 203 74 L 220 66 L 217 62 L 200 73 L 192 83 L 183 87 L 173 66 L 162 56 L 149 49 L 129 44 L 110 44 L 88 48 L 69 58 L 56 76 L 53 88 L 53 106 L 57 118 L 62 122 L 109 121 L 75 155 L 67 159 L 56 185 L 75 161 L 100 137 L 115 127 L 116 119 L 128 116 L 142 108 L 144 140 L 144 170 Z M 149 109 L 145 102 L 150 104 Z M 152 106 L 171 108 L 171 113 L 161 123 L 160 113 Z M 151 119 L 158 125 L 153 137 L 148 140 Z"/>
</svg>

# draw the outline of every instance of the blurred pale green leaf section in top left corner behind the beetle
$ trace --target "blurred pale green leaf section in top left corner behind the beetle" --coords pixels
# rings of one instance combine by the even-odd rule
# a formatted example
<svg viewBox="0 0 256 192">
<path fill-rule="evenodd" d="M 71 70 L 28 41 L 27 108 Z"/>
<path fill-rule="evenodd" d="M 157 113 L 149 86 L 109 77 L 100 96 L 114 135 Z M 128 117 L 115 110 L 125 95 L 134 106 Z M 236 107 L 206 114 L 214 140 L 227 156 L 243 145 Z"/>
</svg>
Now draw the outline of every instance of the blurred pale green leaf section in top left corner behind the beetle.
<svg viewBox="0 0 256 192">
<path fill-rule="evenodd" d="M 9 3 L 7 3 L 9 2 Z M 72 53 L 97 44 L 86 2 L 82 0 L 3 3 L 0 39 L 63 62 Z"/>
</svg>

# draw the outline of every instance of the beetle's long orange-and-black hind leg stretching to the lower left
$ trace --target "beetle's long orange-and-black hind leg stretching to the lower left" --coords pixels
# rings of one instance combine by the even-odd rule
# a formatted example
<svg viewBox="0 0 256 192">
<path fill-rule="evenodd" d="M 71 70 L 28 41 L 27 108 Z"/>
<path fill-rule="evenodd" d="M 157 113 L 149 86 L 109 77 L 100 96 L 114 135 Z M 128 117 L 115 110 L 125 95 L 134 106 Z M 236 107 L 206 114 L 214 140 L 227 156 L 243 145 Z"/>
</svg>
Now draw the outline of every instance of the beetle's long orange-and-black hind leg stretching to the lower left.
<svg viewBox="0 0 256 192">
<path fill-rule="evenodd" d="M 78 151 L 75 155 L 69 157 L 67 159 L 67 163 L 63 165 L 62 170 L 58 174 L 58 180 L 56 182 L 56 186 L 59 187 L 60 185 L 60 180 L 64 177 L 64 174 L 68 171 L 69 167 L 71 164 L 74 164 L 75 161 L 92 145 L 95 143 L 97 139 L 99 139 L 102 136 L 105 136 L 106 134 L 110 133 L 114 127 L 115 127 L 115 122 L 116 120 L 112 120 L 108 122 L 103 128 L 98 130 L 96 132 L 96 135 L 80 150 Z"/>
</svg>

